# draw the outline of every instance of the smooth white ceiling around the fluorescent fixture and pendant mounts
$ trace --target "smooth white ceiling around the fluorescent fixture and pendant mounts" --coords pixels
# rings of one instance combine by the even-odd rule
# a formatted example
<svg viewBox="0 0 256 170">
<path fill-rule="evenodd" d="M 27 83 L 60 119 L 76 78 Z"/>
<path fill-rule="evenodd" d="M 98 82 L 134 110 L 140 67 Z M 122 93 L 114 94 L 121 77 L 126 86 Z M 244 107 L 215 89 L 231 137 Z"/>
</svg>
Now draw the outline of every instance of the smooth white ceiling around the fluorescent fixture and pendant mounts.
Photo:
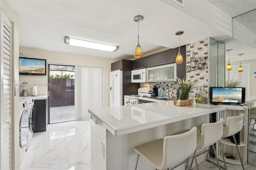
<svg viewBox="0 0 256 170">
<path fill-rule="evenodd" d="M 225 35 L 220 30 L 167 5 L 164 0 L 7 0 L 20 14 L 20 46 L 82 55 L 131 58 L 137 44 L 144 53 L 178 47 L 175 32 L 183 30 L 180 45 Z M 186 4 L 185 4 L 186 5 Z M 115 52 L 74 47 L 64 37 L 118 45 Z M 22 52 L 22 51 L 20 51 Z M 25 54 L 26 55 L 26 54 Z"/>
</svg>

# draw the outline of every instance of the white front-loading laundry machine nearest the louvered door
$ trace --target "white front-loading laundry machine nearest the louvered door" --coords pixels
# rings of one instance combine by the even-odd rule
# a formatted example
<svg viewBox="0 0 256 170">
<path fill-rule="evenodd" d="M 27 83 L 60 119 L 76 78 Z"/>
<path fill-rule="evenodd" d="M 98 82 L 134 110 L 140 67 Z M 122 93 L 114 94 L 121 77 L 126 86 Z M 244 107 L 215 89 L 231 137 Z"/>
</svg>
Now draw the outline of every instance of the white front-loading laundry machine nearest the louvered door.
<svg viewBox="0 0 256 170">
<path fill-rule="evenodd" d="M 26 107 L 26 101 L 20 99 L 19 105 L 20 112 L 20 163 L 24 158 L 26 152 L 26 145 L 28 143 L 29 133 L 29 113 Z"/>
</svg>

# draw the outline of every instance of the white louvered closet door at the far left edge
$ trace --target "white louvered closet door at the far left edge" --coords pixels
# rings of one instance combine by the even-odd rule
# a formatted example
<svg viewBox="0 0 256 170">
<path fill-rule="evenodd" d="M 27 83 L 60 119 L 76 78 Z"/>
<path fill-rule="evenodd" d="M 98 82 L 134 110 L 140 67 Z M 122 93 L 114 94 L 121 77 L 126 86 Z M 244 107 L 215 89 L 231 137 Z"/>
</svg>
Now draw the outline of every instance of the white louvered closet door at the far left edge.
<svg viewBox="0 0 256 170">
<path fill-rule="evenodd" d="M 1 90 L 0 90 L 0 107 L 1 107 L 1 170 L 11 169 L 11 40 L 12 40 L 12 22 L 1 10 L 1 57 L 0 57 L 0 76 L 1 76 Z"/>
</svg>

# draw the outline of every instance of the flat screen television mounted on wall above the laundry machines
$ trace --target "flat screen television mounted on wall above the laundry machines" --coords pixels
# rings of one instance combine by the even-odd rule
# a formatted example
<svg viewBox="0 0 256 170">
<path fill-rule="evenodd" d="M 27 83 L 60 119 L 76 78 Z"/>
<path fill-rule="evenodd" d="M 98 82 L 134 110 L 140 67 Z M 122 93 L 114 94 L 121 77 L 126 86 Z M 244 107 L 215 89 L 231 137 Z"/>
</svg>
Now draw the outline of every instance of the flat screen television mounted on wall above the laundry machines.
<svg viewBox="0 0 256 170">
<path fill-rule="evenodd" d="M 20 75 L 46 75 L 46 59 L 20 57 Z"/>
</svg>

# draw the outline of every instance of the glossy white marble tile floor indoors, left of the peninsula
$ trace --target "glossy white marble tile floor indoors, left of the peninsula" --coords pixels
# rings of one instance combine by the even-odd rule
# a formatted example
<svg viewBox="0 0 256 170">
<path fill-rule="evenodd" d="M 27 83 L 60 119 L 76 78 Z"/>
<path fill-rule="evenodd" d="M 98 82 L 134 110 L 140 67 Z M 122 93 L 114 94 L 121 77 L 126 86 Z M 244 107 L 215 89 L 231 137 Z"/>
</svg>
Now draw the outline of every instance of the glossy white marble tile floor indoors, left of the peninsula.
<svg viewBox="0 0 256 170">
<path fill-rule="evenodd" d="M 34 133 L 20 170 L 90 170 L 90 120 L 50 124 Z"/>
</svg>

